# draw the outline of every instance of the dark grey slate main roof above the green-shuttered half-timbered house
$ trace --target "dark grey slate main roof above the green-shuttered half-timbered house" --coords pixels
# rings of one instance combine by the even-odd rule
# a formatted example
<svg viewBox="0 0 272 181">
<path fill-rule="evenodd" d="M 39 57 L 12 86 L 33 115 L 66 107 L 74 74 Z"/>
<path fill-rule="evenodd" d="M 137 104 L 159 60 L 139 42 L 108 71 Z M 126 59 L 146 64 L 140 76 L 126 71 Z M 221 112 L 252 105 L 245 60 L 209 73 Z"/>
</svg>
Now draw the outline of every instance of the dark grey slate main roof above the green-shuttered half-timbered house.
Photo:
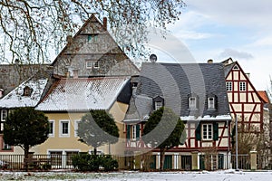
<svg viewBox="0 0 272 181">
<path fill-rule="evenodd" d="M 223 64 L 145 62 L 141 67 L 136 95 L 151 99 L 160 96 L 165 106 L 183 119 L 231 119 Z M 189 95 L 199 97 L 199 109 L 189 110 Z M 216 110 L 208 110 L 208 95 L 216 95 Z M 133 109 L 133 107 L 130 107 Z M 128 113 L 132 110 L 128 110 Z"/>
</svg>

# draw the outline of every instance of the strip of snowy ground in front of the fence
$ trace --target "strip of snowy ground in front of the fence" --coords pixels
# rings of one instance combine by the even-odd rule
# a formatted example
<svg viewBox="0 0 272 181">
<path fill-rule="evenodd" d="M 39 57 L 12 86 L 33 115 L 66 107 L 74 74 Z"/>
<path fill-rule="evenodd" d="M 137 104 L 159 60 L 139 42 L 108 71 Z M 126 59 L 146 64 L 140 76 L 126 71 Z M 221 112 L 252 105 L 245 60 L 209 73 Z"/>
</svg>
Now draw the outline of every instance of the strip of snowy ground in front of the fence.
<svg viewBox="0 0 272 181">
<path fill-rule="evenodd" d="M 262 181 L 272 180 L 272 172 L 242 172 L 234 170 L 216 172 L 112 172 L 112 173 L 75 173 L 53 172 L 8 172 L 0 171 L 0 180 L 110 180 L 110 181 Z"/>
</svg>

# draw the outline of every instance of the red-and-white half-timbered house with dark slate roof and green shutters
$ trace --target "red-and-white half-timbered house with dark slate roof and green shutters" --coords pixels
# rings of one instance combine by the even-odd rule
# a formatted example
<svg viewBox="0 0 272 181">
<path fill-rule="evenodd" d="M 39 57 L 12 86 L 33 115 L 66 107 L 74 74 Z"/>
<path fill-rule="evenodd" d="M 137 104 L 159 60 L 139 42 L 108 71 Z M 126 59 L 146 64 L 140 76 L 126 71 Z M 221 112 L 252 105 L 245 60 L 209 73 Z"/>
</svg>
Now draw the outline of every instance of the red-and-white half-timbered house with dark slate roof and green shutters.
<svg viewBox="0 0 272 181">
<path fill-rule="evenodd" d="M 152 150 L 160 157 L 159 150 L 141 140 L 141 133 L 151 113 L 164 106 L 180 115 L 187 135 L 183 145 L 166 153 L 166 168 L 205 169 L 206 163 L 209 169 L 229 167 L 231 116 L 221 63 L 143 63 L 137 83 L 123 120 L 127 154 Z"/>
</svg>

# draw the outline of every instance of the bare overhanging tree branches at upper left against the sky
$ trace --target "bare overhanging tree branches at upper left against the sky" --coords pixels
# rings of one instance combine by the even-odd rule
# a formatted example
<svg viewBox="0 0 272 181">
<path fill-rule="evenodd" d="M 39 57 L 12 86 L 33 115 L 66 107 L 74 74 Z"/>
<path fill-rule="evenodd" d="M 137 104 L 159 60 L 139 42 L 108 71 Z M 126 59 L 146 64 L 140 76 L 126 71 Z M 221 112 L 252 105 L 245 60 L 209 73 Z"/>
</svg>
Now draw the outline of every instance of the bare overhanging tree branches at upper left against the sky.
<svg viewBox="0 0 272 181">
<path fill-rule="evenodd" d="M 184 5 L 182 0 L 0 0 L 0 62 L 50 62 L 49 55 L 60 51 L 90 13 L 108 17 L 112 35 L 126 36 L 121 46 L 141 55 L 147 28 L 165 29 Z"/>
</svg>

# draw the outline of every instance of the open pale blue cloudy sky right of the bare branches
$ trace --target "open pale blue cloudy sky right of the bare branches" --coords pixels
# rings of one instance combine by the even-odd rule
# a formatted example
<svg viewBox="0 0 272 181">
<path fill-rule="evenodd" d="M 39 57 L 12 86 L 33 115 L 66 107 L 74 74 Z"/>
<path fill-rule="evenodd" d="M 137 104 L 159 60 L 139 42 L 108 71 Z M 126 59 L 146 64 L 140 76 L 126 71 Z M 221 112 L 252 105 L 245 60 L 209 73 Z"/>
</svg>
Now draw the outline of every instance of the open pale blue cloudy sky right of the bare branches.
<svg viewBox="0 0 272 181">
<path fill-rule="evenodd" d="M 267 90 L 272 77 L 272 1 L 184 2 L 180 21 L 169 26 L 172 41 L 151 44 L 175 61 L 182 53 L 181 62 L 222 62 L 231 57 L 250 73 L 257 90 Z"/>
</svg>

